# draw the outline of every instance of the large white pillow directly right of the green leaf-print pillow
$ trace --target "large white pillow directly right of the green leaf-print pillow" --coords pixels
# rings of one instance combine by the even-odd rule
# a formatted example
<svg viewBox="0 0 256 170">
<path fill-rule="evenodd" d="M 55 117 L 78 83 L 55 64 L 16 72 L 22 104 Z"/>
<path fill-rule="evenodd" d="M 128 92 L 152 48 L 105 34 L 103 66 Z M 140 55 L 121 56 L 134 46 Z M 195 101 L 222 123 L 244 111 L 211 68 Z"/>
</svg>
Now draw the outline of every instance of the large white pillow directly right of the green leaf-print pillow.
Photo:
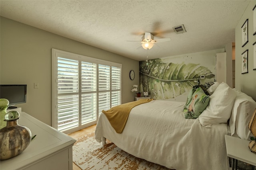
<svg viewBox="0 0 256 170">
<path fill-rule="evenodd" d="M 236 92 L 222 82 L 210 96 L 209 105 L 199 116 L 199 122 L 204 127 L 210 125 L 227 123 L 230 118 Z"/>
</svg>

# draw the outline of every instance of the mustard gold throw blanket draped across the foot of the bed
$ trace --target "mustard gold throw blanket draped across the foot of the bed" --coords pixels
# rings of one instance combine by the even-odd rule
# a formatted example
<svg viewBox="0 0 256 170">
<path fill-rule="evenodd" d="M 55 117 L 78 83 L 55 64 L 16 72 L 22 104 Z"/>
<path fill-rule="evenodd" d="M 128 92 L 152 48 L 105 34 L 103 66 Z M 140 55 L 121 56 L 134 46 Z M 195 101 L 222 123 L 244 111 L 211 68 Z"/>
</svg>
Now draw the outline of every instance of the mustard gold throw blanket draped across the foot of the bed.
<svg viewBox="0 0 256 170">
<path fill-rule="evenodd" d="M 107 111 L 102 110 L 102 113 L 106 115 L 116 133 L 122 133 L 131 109 L 140 104 L 151 102 L 152 100 L 153 99 L 140 99 L 135 102 L 129 102 L 112 107 Z"/>
</svg>

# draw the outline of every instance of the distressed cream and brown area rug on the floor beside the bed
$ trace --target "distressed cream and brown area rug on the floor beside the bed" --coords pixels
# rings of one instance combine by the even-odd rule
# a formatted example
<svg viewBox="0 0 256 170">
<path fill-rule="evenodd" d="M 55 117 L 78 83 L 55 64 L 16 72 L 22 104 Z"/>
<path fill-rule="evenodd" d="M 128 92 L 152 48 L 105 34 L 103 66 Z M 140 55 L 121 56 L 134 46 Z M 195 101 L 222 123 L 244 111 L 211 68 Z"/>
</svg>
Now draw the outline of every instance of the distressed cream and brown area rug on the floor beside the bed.
<svg viewBox="0 0 256 170">
<path fill-rule="evenodd" d="M 82 170 L 170 170 L 164 166 L 136 158 L 107 140 L 102 146 L 90 133 L 73 146 L 73 162 Z"/>
</svg>

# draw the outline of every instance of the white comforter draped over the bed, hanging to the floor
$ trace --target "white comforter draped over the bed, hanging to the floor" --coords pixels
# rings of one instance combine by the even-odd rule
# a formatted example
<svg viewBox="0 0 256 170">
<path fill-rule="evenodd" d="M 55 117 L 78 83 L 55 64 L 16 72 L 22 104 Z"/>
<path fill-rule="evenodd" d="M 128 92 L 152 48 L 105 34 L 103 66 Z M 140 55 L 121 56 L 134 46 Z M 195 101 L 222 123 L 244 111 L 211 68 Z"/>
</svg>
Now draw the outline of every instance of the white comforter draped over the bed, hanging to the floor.
<svg viewBox="0 0 256 170">
<path fill-rule="evenodd" d="M 153 100 L 130 111 L 121 134 L 102 113 L 95 130 L 120 149 L 176 170 L 227 170 L 226 124 L 202 127 L 198 119 L 185 119 L 184 102 Z"/>
</svg>

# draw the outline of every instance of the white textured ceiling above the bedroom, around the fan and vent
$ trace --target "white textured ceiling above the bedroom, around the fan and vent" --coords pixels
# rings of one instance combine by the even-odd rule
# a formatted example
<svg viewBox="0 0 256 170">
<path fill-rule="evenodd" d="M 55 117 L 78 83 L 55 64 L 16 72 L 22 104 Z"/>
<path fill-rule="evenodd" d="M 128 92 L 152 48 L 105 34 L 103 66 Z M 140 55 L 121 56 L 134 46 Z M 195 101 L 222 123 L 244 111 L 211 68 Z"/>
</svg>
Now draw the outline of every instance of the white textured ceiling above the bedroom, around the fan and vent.
<svg viewBox="0 0 256 170">
<path fill-rule="evenodd" d="M 248 0 L 1 0 L 0 15 L 131 59 L 146 59 L 143 33 L 170 38 L 148 50 L 161 58 L 224 48 Z M 184 24 L 186 33 L 172 27 Z M 241 25 L 242 26 L 242 25 Z"/>
</svg>

